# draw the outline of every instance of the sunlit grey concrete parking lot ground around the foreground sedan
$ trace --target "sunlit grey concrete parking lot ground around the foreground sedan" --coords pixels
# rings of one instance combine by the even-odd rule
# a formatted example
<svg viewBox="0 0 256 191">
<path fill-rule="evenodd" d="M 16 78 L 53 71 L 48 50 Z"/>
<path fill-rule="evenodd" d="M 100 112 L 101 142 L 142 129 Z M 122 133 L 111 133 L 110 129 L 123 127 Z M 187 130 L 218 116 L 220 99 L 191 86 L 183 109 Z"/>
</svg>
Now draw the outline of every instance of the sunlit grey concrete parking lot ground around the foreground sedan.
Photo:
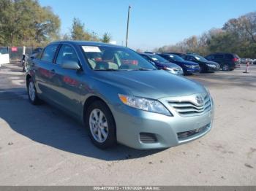
<svg viewBox="0 0 256 191">
<path fill-rule="evenodd" d="M 100 150 L 66 114 L 29 104 L 18 64 L 2 66 L 0 184 L 256 185 L 256 66 L 244 69 L 188 77 L 215 101 L 214 128 L 201 139 L 161 150 Z"/>
</svg>

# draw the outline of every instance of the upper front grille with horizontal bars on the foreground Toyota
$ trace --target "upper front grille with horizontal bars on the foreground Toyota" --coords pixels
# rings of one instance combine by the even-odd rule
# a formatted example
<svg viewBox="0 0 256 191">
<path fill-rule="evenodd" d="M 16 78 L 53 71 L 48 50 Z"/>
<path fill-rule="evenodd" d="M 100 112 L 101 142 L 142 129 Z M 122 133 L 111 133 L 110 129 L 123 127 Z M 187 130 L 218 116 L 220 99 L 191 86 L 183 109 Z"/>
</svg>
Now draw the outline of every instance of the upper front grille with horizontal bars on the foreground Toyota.
<svg viewBox="0 0 256 191">
<path fill-rule="evenodd" d="M 197 106 L 192 101 L 168 101 L 168 103 L 176 109 L 178 114 L 184 117 L 202 114 L 203 112 L 208 112 L 211 109 L 211 98 L 209 95 L 206 95 L 203 98 L 203 104 L 201 106 Z"/>
</svg>

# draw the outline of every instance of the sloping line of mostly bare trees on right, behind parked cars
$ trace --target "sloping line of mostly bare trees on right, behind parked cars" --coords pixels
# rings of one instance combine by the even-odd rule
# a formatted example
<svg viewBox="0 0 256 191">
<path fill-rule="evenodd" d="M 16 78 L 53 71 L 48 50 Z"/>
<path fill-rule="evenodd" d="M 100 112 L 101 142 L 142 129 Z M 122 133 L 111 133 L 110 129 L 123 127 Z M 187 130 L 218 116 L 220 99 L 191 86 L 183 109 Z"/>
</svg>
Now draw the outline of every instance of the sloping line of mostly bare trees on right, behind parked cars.
<svg viewBox="0 0 256 191">
<path fill-rule="evenodd" d="M 190 36 L 173 45 L 156 48 L 156 52 L 233 52 L 241 58 L 256 58 L 256 12 L 228 20 L 222 28 L 212 28 L 200 36 Z"/>
</svg>

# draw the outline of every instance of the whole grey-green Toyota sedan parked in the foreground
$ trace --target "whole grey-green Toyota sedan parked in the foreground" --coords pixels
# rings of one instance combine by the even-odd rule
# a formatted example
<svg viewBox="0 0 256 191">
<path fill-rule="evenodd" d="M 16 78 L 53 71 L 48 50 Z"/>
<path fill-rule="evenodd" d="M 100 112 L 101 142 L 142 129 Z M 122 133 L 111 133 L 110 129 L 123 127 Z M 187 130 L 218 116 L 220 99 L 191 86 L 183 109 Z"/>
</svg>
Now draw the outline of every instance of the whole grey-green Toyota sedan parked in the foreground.
<svg viewBox="0 0 256 191">
<path fill-rule="evenodd" d="M 29 61 L 26 85 L 31 104 L 77 118 L 102 149 L 174 147 L 204 136 L 214 117 L 205 87 L 112 44 L 50 43 Z"/>
</svg>

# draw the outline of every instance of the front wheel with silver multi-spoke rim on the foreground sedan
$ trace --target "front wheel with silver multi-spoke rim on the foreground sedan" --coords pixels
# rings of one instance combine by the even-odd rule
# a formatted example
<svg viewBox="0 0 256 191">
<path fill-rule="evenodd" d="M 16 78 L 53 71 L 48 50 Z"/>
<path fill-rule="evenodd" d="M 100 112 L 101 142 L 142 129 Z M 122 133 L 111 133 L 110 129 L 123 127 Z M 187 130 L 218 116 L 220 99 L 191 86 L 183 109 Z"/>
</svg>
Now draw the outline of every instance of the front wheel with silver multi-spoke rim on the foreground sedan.
<svg viewBox="0 0 256 191">
<path fill-rule="evenodd" d="M 116 144 L 116 123 L 103 101 L 94 101 L 86 111 L 86 128 L 92 143 L 99 149 Z"/>
</svg>

